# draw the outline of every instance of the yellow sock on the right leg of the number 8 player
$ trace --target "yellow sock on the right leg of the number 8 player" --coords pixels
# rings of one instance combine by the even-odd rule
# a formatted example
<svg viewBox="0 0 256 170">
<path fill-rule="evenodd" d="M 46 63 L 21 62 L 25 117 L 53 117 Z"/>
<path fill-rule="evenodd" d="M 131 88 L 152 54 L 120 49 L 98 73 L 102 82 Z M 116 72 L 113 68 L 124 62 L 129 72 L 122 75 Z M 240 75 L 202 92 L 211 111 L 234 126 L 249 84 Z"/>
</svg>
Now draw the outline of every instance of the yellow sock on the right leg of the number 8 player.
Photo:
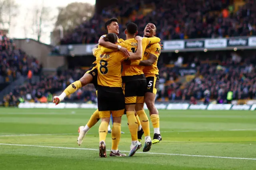
<svg viewBox="0 0 256 170">
<path fill-rule="evenodd" d="M 113 123 L 112 132 L 112 150 L 118 150 L 118 144 L 121 137 L 121 123 Z"/>
</svg>

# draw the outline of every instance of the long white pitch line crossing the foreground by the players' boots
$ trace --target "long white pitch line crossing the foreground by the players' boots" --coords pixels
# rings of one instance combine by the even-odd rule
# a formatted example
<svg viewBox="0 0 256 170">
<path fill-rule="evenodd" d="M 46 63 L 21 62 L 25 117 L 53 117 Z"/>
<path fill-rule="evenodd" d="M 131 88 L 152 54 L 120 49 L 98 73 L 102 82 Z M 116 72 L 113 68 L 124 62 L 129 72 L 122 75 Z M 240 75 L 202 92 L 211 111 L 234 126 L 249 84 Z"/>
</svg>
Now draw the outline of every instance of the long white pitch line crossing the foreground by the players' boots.
<svg viewBox="0 0 256 170">
<path fill-rule="evenodd" d="M 40 146 L 40 145 L 27 145 L 27 144 L 8 144 L 0 143 L 0 145 L 9 145 L 9 146 L 30 146 L 30 147 L 41 147 L 41 148 L 60 148 L 60 149 L 77 149 L 77 150 L 98 150 L 98 149 L 89 149 L 89 148 L 68 148 L 68 147 L 57 147 L 57 146 Z M 108 150 L 110 151 L 110 150 Z M 127 152 L 129 151 L 122 151 Z M 136 152 L 140 154 L 158 154 L 158 155 L 174 155 L 174 156 L 192 156 L 192 157 L 205 157 L 205 158 L 226 158 L 226 159 L 241 159 L 241 160 L 256 160 L 256 158 L 237 158 L 237 157 L 226 157 L 226 156 L 206 156 L 206 155 L 187 155 L 187 154 L 166 154 L 166 153 L 153 153 L 153 152 Z"/>
</svg>

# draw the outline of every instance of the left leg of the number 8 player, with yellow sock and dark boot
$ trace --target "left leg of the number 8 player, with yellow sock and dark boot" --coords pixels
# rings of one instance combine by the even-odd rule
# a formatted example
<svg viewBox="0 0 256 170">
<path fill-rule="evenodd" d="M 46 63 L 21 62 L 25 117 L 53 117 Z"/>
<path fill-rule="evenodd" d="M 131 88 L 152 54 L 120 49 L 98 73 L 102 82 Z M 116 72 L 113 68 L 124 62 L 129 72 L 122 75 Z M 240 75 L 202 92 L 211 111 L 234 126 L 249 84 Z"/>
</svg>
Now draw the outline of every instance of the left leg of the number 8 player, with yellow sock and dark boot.
<svg viewBox="0 0 256 170">
<path fill-rule="evenodd" d="M 110 121 L 110 111 L 99 111 L 101 123 L 99 127 L 99 150 L 100 150 L 100 157 L 107 157 L 106 154 L 106 136 L 108 134 L 108 123 Z"/>
</svg>

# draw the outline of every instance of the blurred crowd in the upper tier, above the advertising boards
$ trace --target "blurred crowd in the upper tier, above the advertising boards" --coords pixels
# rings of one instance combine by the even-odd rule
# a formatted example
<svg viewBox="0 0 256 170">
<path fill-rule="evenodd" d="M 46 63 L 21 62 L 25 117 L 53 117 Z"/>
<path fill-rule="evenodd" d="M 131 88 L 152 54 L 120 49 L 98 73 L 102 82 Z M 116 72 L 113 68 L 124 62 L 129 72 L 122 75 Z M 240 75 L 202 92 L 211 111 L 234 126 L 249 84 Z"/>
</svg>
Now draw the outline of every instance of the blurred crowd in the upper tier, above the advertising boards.
<svg viewBox="0 0 256 170">
<path fill-rule="evenodd" d="M 140 7 L 151 8 L 151 12 L 143 15 L 137 12 Z M 254 0 L 247 0 L 236 12 L 229 0 L 146 0 L 143 4 L 125 0 L 104 8 L 102 15 L 95 14 L 61 40 L 61 44 L 97 43 L 106 34 L 105 20 L 112 17 L 128 18 L 125 24 L 136 23 L 139 34 L 148 22 L 154 21 L 158 28 L 156 36 L 161 40 L 255 36 L 255 11 Z M 124 38 L 125 24 L 119 22 L 120 38 Z"/>
</svg>

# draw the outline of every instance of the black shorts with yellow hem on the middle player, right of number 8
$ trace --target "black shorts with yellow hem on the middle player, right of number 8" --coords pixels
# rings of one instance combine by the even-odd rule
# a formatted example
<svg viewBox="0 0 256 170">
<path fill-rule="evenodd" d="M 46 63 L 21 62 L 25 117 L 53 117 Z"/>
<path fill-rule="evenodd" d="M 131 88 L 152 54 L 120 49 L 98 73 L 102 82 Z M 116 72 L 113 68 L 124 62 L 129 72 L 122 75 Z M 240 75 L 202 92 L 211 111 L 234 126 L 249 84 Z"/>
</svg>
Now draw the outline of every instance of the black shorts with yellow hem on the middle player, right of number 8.
<svg viewBox="0 0 256 170">
<path fill-rule="evenodd" d="M 126 83 L 123 83 L 125 104 L 133 105 L 135 103 L 144 103 L 146 85 L 146 79 L 126 81 Z"/>
</svg>

